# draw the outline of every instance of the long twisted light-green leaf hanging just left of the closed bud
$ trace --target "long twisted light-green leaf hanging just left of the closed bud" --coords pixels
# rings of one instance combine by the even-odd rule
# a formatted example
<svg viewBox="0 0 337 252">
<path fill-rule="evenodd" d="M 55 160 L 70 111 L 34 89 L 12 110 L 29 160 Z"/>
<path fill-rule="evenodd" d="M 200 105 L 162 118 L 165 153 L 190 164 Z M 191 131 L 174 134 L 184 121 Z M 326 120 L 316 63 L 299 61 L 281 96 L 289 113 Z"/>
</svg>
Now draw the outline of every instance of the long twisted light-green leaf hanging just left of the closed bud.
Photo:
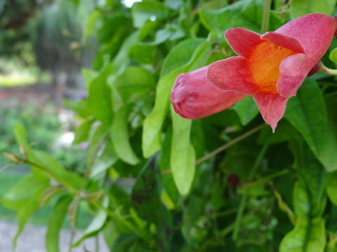
<svg viewBox="0 0 337 252">
<path fill-rule="evenodd" d="M 180 52 L 184 54 L 186 48 L 188 48 L 187 43 L 180 43 L 179 48 L 177 47 L 176 50 L 180 50 Z M 161 127 L 164 123 L 166 113 L 169 111 L 169 97 L 174 80 L 176 80 L 176 77 L 180 73 L 193 71 L 194 69 L 204 66 L 209 57 L 209 52 L 211 52 L 210 42 L 206 41 L 201 43 L 197 49 L 194 50 L 194 53 L 187 64 L 185 64 L 185 58 L 187 57 L 184 57 L 183 62 L 181 62 L 182 64 L 185 64 L 184 66 L 171 71 L 160 78 L 157 86 L 154 108 L 150 115 L 145 118 L 143 124 L 142 147 L 145 158 L 150 157 L 150 155 L 159 151 L 161 148 Z"/>
</svg>

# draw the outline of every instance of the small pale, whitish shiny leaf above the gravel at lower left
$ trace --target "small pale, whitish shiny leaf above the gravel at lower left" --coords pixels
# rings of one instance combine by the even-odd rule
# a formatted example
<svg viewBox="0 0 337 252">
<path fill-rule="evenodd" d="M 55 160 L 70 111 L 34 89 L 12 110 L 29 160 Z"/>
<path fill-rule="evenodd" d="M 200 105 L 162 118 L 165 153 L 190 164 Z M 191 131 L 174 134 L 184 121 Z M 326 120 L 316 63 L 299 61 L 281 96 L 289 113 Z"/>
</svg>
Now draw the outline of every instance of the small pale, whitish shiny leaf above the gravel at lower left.
<svg viewBox="0 0 337 252">
<path fill-rule="evenodd" d="M 103 206 L 107 207 L 108 205 L 108 197 L 105 197 L 103 200 Z M 88 228 L 84 230 L 83 235 L 81 238 L 79 238 L 74 244 L 72 244 L 72 247 L 79 246 L 81 244 L 81 241 L 84 239 L 87 239 L 89 237 L 93 237 L 100 232 L 100 230 L 103 229 L 105 221 L 107 220 L 107 213 L 104 210 L 98 211 L 97 214 L 95 214 L 95 218 L 93 218 L 93 221 L 88 225 Z"/>
</svg>

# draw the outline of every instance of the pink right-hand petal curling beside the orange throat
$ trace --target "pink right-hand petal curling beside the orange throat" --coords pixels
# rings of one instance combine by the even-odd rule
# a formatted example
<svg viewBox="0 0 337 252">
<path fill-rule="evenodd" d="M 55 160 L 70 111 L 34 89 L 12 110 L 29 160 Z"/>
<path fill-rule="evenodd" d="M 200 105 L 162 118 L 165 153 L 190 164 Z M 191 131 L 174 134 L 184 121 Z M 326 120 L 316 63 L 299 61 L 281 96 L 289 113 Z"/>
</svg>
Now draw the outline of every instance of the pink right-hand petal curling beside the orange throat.
<svg viewBox="0 0 337 252">
<path fill-rule="evenodd" d="M 303 62 L 305 55 L 298 53 L 282 60 L 279 65 L 281 76 L 277 80 L 277 91 L 282 97 L 292 97 L 296 95 L 298 87 L 303 83 L 306 73 L 303 73 Z"/>
</svg>

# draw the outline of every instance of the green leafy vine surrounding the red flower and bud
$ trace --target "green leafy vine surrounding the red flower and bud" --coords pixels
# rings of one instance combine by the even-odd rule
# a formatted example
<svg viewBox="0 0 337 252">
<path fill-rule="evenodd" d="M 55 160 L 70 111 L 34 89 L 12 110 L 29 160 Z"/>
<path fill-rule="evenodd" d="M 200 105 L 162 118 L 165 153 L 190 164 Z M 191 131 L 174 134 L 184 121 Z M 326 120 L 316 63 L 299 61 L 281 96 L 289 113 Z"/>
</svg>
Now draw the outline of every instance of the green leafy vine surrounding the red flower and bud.
<svg viewBox="0 0 337 252">
<path fill-rule="evenodd" d="M 62 4 L 77 10 L 81 2 Z M 123 252 L 336 250 L 333 77 L 307 78 L 275 134 L 252 97 L 199 120 L 180 118 L 169 102 L 180 73 L 233 55 L 226 29 L 260 31 L 263 3 L 93 1 L 84 29 L 84 41 L 97 43 L 93 69 L 82 70 L 88 97 L 65 101 L 80 120 L 73 145 L 88 144 L 85 169 L 32 144 L 41 139 L 30 117 L 20 122 L 27 132 L 15 124 L 7 156 L 31 174 L 1 203 L 18 212 L 18 235 L 49 202 L 48 252 L 58 251 L 62 223 L 78 228 L 84 206 L 93 219 L 71 246 L 103 233 L 111 251 Z M 331 13 L 336 2 L 273 3 L 270 30 L 302 11 Z M 322 61 L 332 65 L 327 55 Z"/>
</svg>

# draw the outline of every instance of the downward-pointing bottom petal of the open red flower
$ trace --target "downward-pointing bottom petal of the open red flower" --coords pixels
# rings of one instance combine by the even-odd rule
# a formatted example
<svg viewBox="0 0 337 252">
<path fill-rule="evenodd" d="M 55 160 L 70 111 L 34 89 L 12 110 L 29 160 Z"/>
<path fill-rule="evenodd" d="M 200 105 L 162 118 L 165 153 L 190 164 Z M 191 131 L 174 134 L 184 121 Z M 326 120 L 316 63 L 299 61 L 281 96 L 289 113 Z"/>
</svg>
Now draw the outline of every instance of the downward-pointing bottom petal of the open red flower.
<svg viewBox="0 0 337 252">
<path fill-rule="evenodd" d="M 258 105 L 258 110 L 260 111 L 263 120 L 272 127 L 272 132 L 275 132 L 277 123 L 284 115 L 286 102 L 289 98 L 281 97 L 279 94 L 258 92 L 253 95 L 253 99 L 256 102 L 256 105 Z"/>
</svg>

